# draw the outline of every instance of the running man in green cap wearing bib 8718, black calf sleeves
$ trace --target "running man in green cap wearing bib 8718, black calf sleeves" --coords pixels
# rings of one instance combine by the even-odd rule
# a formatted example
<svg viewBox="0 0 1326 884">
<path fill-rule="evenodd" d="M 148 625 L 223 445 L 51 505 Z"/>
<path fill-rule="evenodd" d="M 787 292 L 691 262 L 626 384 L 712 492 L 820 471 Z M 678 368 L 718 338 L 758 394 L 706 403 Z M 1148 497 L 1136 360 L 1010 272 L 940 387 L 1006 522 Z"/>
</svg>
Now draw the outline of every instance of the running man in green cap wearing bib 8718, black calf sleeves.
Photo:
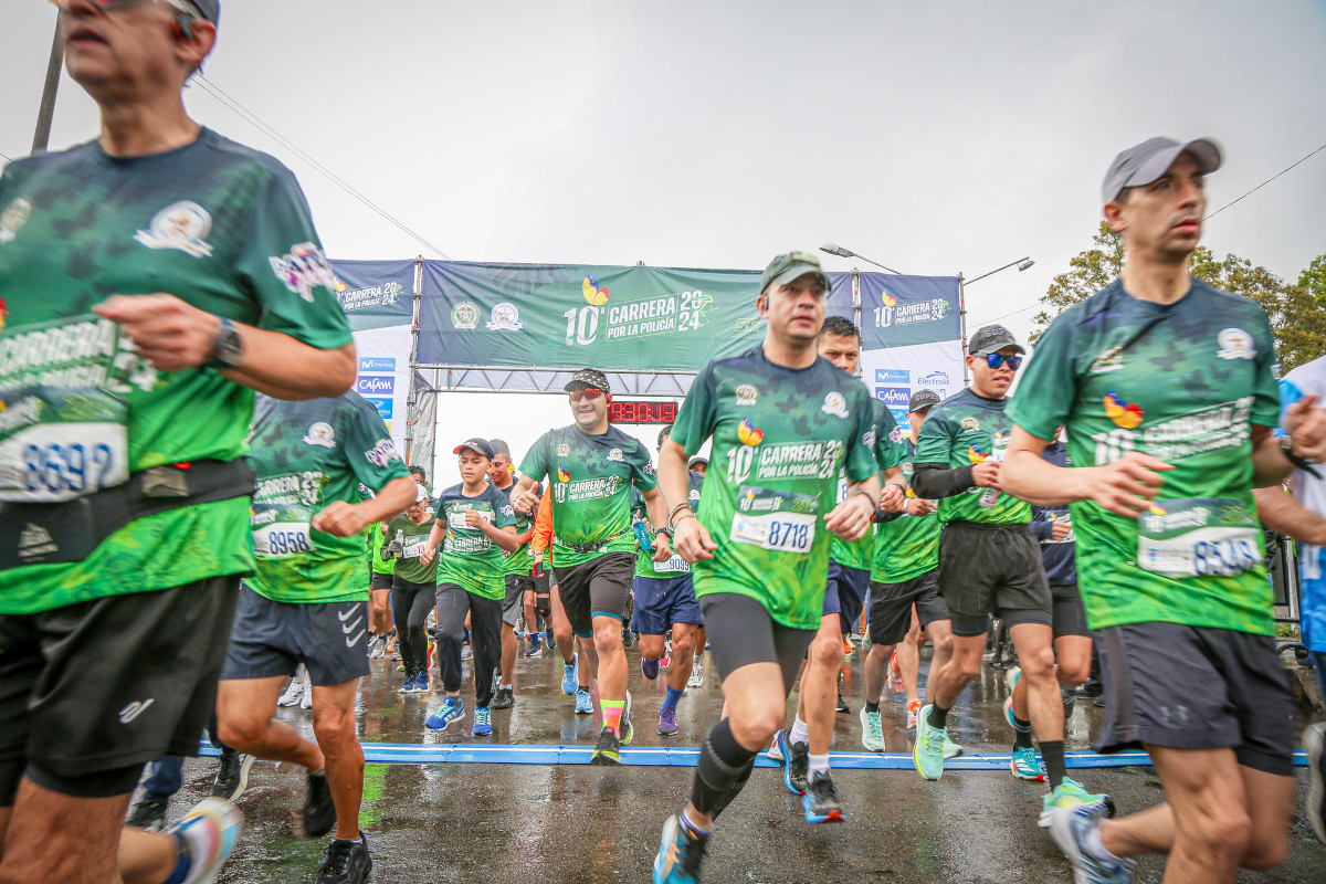
<svg viewBox="0 0 1326 884">
<path fill-rule="evenodd" d="M 788 693 L 823 618 L 829 535 L 865 537 L 882 493 L 870 394 L 815 351 L 829 286 L 815 256 L 773 258 L 756 301 L 764 343 L 700 370 L 659 455 L 727 704 L 700 747 L 690 803 L 663 826 L 655 884 L 700 880 L 715 819 L 786 721 Z M 711 437 L 720 468 L 696 516 L 686 463 Z M 843 465 L 849 492 L 839 500 Z M 826 779 L 817 773 L 805 804 Z"/>
</svg>

